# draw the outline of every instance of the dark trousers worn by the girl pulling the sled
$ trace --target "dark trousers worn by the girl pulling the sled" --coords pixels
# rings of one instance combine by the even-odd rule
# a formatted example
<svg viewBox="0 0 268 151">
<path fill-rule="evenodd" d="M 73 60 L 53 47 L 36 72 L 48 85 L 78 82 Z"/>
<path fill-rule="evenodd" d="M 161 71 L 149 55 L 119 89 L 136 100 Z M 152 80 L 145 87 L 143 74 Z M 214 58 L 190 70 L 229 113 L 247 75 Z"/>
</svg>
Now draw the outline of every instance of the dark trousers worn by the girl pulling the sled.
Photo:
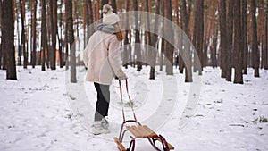
<svg viewBox="0 0 268 151">
<path fill-rule="evenodd" d="M 97 93 L 95 121 L 101 121 L 105 116 L 108 116 L 110 103 L 109 85 L 103 85 L 94 82 Z"/>
</svg>

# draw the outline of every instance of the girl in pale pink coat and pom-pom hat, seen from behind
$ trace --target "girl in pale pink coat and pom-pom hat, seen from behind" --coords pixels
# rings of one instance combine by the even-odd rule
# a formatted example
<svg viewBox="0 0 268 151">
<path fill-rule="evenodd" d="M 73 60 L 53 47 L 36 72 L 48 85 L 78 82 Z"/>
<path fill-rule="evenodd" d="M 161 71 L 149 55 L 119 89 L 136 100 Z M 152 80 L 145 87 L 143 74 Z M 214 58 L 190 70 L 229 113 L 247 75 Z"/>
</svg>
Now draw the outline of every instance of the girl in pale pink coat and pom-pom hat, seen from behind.
<svg viewBox="0 0 268 151">
<path fill-rule="evenodd" d="M 121 69 L 120 43 L 123 39 L 119 17 L 113 13 L 109 4 L 103 7 L 103 22 L 97 25 L 97 31 L 89 38 L 83 56 L 88 68 L 86 80 L 94 82 L 97 92 L 96 113 L 91 126 L 95 135 L 109 133 L 108 115 L 110 103 L 109 87 L 114 75 L 120 80 L 127 79 Z"/>
</svg>

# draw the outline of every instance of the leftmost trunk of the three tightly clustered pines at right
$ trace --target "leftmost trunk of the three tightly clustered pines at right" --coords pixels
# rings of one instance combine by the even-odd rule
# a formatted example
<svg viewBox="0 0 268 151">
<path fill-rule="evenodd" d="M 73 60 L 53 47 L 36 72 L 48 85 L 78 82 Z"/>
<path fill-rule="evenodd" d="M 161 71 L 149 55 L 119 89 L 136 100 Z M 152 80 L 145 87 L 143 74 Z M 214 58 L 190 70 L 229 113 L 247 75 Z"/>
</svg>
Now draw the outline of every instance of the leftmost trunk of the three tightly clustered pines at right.
<svg viewBox="0 0 268 151">
<path fill-rule="evenodd" d="M 219 6 L 220 12 L 220 32 L 221 32 L 221 44 L 220 44 L 220 57 L 221 57 L 221 68 L 222 78 L 226 78 L 226 51 L 227 51 L 227 36 L 226 36 L 226 1 L 220 0 Z"/>
</svg>

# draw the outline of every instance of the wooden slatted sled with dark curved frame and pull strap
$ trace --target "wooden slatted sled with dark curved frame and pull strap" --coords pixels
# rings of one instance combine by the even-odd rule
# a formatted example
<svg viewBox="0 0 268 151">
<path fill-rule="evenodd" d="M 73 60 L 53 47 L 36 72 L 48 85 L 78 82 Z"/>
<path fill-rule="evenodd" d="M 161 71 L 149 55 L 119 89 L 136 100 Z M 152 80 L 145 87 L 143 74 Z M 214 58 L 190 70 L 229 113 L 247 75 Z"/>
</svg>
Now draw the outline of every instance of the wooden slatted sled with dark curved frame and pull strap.
<svg viewBox="0 0 268 151">
<path fill-rule="evenodd" d="M 151 130 L 147 125 L 142 125 L 140 122 L 137 121 L 136 115 L 134 113 L 133 109 L 133 102 L 130 99 L 130 94 L 129 94 L 129 89 L 128 89 L 128 80 L 126 80 L 126 88 L 127 88 L 127 93 L 130 99 L 130 107 L 133 112 L 134 120 L 125 120 L 125 114 L 124 114 L 124 109 L 123 109 L 123 101 L 122 101 L 122 90 L 121 90 L 121 80 L 119 80 L 119 85 L 120 85 L 120 93 L 121 93 L 121 107 L 122 107 L 122 115 L 123 115 L 123 123 L 121 124 L 121 130 L 119 134 L 119 138 L 113 138 L 115 143 L 117 144 L 117 147 L 121 151 L 134 151 L 135 145 L 136 145 L 136 139 L 138 138 L 146 138 L 149 143 L 157 150 L 161 151 L 159 147 L 156 147 L 156 142 L 159 142 L 162 144 L 163 151 L 170 151 L 174 150 L 174 147 L 172 147 L 171 144 L 169 144 L 165 138 L 163 138 L 162 135 L 157 135 L 154 130 Z M 122 145 L 122 141 L 124 138 L 125 133 L 129 131 L 131 140 L 130 140 L 130 145 L 129 147 L 124 147 Z"/>
</svg>

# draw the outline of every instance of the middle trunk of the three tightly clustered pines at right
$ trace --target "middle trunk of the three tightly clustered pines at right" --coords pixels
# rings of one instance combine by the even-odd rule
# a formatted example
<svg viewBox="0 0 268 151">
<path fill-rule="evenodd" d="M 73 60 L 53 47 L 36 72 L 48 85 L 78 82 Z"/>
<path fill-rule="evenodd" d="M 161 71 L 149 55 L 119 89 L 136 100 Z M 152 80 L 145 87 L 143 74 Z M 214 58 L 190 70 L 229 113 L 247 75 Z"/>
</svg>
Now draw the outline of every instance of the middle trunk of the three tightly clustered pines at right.
<svg viewBox="0 0 268 151">
<path fill-rule="evenodd" d="M 232 58 L 232 33 L 233 33 L 233 0 L 228 1 L 228 17 L 227 17 L 227 49 L 226 49 L 226 58 Z M 237 8 L 238 9 L 238 8 Z M 231 81 L 231 68 L 232 63 L 226 63 L 226 80 Z"/>
</svg>

